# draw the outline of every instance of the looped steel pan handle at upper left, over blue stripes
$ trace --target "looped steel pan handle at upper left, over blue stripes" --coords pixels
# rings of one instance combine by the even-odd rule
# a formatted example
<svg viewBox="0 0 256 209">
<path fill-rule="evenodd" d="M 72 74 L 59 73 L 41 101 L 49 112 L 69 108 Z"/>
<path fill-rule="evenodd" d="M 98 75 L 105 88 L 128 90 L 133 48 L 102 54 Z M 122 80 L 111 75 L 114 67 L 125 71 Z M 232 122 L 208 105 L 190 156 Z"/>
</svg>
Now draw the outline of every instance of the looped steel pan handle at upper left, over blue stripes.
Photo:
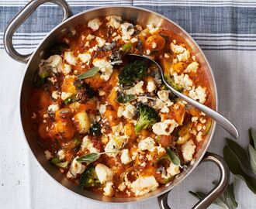
<svg viewBox="0 0 256 209">
<path fill-rule="evenodd" d="M 37 7 L 40 5 L 43 5 L 44 3 L 54 3 L 58 5 L 62 11 L 63 11 L 63 19 L 68 19 L 71 17 L 72 12 L 69 5 L 67 5 L 67 2 L 64 0 L 32 0 L 30 1 L 15 17 L 12 19 L 12 21 L 9 23 L 7 28 L 5 29 L 4 33 L 4 46 L 6 52 L 9 54 L 10 57 L 12 57 L 14 60 L 17 60 L 22 63 L 27 63 L 31 54 L 20 54 L 19 52 L 14 49 L 12 44 L 12 36 L 13 33 L 16 32 L 16 29 L 19 28 L 19 26 L 28 19 L 28 17 L 36 10 Z"/>
</svg>

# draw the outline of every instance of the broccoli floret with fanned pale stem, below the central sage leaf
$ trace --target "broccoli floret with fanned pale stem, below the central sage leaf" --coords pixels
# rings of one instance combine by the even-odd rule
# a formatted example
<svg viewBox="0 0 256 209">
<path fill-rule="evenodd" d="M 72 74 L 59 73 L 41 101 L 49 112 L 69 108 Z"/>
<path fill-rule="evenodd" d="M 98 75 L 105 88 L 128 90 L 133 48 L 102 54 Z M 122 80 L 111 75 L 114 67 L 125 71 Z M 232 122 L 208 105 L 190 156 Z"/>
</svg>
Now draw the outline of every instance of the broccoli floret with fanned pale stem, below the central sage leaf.
<svg viewBox="0 0 256 209">
<path fill-rule="evenodd" d="M 138 134 L 140 130 L 146 129 L 160 121 L 160 117 L 154 108 L 147 105 L 139 105 L 139 120 L 135 125 L 135 132 Z"/>
</svg>

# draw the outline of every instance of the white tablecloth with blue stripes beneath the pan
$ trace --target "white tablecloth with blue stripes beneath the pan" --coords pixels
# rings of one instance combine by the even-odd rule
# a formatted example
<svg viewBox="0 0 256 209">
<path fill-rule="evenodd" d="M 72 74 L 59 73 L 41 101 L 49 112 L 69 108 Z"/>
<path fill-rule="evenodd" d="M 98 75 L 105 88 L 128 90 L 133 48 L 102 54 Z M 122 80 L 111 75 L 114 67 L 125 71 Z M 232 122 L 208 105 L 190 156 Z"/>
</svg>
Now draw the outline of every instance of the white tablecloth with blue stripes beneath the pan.
<svg viewBox="0 0 256 209">
<path fill-rule="evenodd" d="M 27 0 L 0 0 L 0 208 L 157 208 L 157 200 L 139 204 L 107 205 L 64 189 L 36 163 L 19 124 L 19 86 L 25 64 L 12 60 L 3 49 L 5 26 Z M 243 0 L 70 0 L 74 14 L 104 5 L 136 5 L 177 22 L 206 53 L 216 76 L 219 111 L 237 125 L 239 142 L 248 142 L 247 128 L 256 127 L 256 2 Z M 61 22 L 61 10 L 43 5 L 14 36 L 16 49 L 28 53 Z M 217 127 L 209 151 L 222 154 L 227 132 Z M 172 208 L 191 208 L 196 200 L 189 190 L 209 191 L 220 176 L 216 166 L 200 165 L 169 194 Z M 235 188 L 239 208 L 252 209 L 256 197 L 241 181 Z M 211 208 L 216 208 L 211 206 Z"/>
</svg>

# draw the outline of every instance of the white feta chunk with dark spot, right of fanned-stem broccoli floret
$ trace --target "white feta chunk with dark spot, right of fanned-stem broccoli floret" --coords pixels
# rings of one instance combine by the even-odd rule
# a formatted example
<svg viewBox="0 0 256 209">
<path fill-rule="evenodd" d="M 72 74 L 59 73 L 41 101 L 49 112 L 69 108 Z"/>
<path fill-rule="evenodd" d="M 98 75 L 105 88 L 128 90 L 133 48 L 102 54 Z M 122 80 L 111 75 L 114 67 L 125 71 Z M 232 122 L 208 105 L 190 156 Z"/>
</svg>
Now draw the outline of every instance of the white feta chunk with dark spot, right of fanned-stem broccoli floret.
<svg viewBox="0 0 256 209">
<path fill-rule="evenodd" d="M 178 123 L 175 120 L 164 120 L 163 122 L 155 123 L 152 128 L 153 132 L 157 135 L 170 135 L 171 132 L 178 126 Z"/>
</svg>

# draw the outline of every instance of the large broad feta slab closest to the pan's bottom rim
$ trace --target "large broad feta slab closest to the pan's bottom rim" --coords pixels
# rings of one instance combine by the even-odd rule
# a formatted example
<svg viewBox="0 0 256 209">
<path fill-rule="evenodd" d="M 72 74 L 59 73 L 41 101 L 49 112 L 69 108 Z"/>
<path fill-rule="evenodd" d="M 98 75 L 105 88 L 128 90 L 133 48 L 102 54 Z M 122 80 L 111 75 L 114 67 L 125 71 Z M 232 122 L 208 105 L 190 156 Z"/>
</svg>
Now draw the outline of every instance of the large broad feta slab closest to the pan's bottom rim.
<svg viewBox="0 0 256 209">
<path fill-rule="evenodd" d="M 157 180 L 154 176 L 140 176 L 131 183 L 130 188 L 135 196 L 140 196 L 156 190 L 158 187 Z"/>
</svg>

